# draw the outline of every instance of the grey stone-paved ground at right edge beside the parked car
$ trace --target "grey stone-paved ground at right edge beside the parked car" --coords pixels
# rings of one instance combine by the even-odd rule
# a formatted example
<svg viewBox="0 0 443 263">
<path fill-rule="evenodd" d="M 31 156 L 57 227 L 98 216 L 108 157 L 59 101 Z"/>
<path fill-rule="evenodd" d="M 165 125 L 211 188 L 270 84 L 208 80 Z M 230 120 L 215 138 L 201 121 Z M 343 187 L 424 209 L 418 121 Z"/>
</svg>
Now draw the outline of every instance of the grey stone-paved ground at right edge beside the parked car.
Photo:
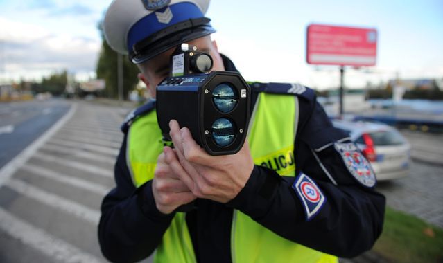
<svg viewBox="0 0 443 263">
<path fill-rule="evenodd" d="M 401 133 L 411 145 L 409 176 L 379 183 L 388 206 L 443 228 L 443 136 L 419 131 Z"/>
</svg>

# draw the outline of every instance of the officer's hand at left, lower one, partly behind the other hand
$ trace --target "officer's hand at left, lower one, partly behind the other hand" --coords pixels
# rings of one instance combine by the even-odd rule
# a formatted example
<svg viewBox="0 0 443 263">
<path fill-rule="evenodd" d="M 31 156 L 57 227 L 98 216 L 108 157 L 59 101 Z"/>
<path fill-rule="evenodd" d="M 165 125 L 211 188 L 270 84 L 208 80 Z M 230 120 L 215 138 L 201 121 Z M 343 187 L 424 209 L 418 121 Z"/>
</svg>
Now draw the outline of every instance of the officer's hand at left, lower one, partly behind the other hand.
<svg viewBox="0 0 443 263">
<path fill-rule="evenodd" d="M 196 199 L 186 184 L 175 174 L 177 166 L 180 166 L 180 163 L 174 150 L 164 147 L 164 152 L 157 159 L 153 179 L 155 205 L 164 214 L 170 214 L 175 208 Z"/>
</svg>

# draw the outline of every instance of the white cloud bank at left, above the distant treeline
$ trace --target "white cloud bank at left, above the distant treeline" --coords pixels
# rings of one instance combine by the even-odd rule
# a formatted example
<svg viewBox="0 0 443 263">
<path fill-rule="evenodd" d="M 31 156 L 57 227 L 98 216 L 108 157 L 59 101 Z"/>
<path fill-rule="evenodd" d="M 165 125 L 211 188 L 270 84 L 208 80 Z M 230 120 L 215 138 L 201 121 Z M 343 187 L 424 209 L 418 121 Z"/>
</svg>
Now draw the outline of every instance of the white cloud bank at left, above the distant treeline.
<svg viewBox="0 0 443 263">
<path fill-rule="evenodd" d="M 10 78 L 25 78 L 67 69 L 70 73 L 95 71 L 101 42 L 87 37 L 55 35 L 45 28 L 10 21 L 0 32 L 0 60 Z"/>
</svg>

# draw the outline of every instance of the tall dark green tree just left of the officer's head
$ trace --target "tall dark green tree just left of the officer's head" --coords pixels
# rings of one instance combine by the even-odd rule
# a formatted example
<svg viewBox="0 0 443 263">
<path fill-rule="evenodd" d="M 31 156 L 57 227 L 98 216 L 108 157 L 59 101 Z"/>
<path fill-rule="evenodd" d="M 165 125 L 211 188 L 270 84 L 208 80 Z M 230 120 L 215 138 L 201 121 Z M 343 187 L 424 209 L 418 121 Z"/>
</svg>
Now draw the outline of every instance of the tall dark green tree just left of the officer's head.
<svg viewBox="0 0 443 263">
<path fill-rule="evenodd" d="M 98 30 L 101 32 L 102 46 L 100 57 L 96 67 L 97 78 L 106 82 L 107 96 L 110 98 L 119 97 L 118 79 L 117 79 L 117 53 L 105 41 L 103 35 L 102 23 L 98 24 Z M 130 62 L 127 55 L 123 56 L 123 98 L 128 98 L 128 93 L 134 89 L 138 82 L 137 73 L 139 69 Z"/>
</svg>

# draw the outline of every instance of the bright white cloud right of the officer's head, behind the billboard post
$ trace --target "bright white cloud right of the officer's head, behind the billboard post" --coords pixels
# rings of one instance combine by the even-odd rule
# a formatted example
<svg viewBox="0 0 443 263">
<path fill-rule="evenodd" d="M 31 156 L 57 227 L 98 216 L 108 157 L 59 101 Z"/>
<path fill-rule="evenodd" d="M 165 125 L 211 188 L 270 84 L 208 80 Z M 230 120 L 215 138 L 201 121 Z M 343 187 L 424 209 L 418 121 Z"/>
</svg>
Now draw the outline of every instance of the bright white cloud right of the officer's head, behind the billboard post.
<svg viewBox="0 0 443 263">
<path fill-rule="evenodd" d="M 340 86 L 339 66 L 313 66 L 306 64 L 302 48 L 291 48 L 294 42 L 287 39 L 271 46 L 247 35 L 232 37 L 215 33 L 218 49 L 230 57 L 245 80 L 259 82 L 300 83 L 315 89 L 330 89 Z M 399 78 L 443 77 L 443 67 L 439 62 L 429 62 L 426 66 L 404 64 L 396 66 L 378 62 L 377 66 L 362 69 L 345 67 L 344 82 L 347 89 L 361 89 L 368 83 L 379 84 Z"/>
</svg>

